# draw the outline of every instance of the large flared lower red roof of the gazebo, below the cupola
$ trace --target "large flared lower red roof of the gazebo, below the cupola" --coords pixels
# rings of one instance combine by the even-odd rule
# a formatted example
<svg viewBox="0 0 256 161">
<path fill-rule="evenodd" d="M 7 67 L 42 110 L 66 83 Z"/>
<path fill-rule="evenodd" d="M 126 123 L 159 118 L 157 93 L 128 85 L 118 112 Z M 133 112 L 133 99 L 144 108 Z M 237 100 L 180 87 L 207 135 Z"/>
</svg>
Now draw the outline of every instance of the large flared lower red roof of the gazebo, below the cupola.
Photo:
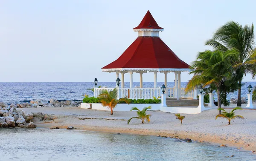
<svg viewBox="0 0 256 161">
<path fill-rule="evenodd" d="M 189 69 L 160 37 L 137 37 L 137 39 L 115 61 L 102 69 Z"/>
</svg>

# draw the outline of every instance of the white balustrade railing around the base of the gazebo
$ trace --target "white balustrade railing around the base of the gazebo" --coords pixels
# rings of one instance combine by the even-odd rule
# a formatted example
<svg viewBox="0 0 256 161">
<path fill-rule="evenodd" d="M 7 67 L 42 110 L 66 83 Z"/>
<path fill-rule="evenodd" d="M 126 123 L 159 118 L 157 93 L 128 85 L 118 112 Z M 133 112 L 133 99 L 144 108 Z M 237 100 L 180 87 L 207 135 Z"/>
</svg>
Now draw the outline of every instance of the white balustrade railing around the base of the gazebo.
<svg viewBox="0 0 256 161">
<path fill-rule="evenodd" d="M 94 88 L 94 97 L 98 97 L 104 90 L 113 91 L 114 88 Z M 194 92 L 185 93 L 185 88 L 176 89 L 166 88 L 166 98 L 177 98 L 177 92 L 179 98 L 193 99 Z M 131 99 L 153 99 L 153 97 L 160 97 L 162 93 L 160 88 L 119 88 L 119 97 L 127 97 Z"/>
</svg>

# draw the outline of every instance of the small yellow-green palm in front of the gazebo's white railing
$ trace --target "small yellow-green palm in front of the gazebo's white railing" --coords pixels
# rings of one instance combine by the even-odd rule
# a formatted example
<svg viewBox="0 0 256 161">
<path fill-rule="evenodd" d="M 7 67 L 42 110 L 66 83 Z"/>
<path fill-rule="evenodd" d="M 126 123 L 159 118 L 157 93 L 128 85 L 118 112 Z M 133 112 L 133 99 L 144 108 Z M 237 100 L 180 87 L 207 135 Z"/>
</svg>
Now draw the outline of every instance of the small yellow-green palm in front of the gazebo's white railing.
<svg viewBox="0 0 256 161">
<path fill-rule="evenodd" d="M 111 110 L 111 115 L 113 115 L 113 109 L 116 107 L 117 103 L 124 101 L 125 103 L 130 103 L 128 98 L 119 98 L 118 99 L 118 89 L 114 88 L 113 91 L 108 92 L 104 90 L 99 96 L 99 102 L 102 103 L 104 107 L 108 107 Z"/>
</svg>

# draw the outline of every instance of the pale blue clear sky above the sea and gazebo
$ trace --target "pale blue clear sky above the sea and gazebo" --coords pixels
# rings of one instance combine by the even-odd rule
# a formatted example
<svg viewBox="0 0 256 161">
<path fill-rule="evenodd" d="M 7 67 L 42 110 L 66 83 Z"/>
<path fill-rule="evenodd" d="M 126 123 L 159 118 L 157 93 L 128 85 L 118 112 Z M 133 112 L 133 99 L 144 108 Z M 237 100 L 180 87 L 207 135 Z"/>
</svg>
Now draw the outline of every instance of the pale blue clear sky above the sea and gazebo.
<svg viewBox="0 0 256 161">
<path fill-rule="evenodd" d="M 114 82 L 116 74 L 101 68 L 137 38 L 133 28 L 148 10 L 164 28 L 160 38 L 191 64 L 227 21 L 256 23 L 255 6 L 255 0 L 0 0 L 0 82 Z M 181 81 L 191 77 L 181 73 Z M 174 78 L 170 73 L 167 81 Z M 163 82 L 164 74 L 157 79 Z M 143 81 L 154 81 L 154 74 L 143 74 Z"/>
</svg>

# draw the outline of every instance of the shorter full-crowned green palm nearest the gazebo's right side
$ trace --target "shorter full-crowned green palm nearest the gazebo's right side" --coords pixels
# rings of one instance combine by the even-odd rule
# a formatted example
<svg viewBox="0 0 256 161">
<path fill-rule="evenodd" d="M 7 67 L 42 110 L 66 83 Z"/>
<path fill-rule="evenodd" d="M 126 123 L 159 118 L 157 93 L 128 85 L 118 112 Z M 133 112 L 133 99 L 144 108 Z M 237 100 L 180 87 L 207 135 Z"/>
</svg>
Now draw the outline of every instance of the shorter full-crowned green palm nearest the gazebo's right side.
<svg viewBox="0 0 256 161">
<path fill-rule="evenodd" d="M 221 107 L 221 83 L 232 78 L 233 68 L 231 58 L 236 53 L 233 50 L 225 52 L 217 50 L 199 52 L 197 59 L 192 62 L 191 67 L 195 69 L 189 74 L 194 74 L 186 86 L 186 92 L 214 84 L 217 88 L 218 107 Z M 221 111 L 219 111 L 221 113 Z"/>
</svg>

